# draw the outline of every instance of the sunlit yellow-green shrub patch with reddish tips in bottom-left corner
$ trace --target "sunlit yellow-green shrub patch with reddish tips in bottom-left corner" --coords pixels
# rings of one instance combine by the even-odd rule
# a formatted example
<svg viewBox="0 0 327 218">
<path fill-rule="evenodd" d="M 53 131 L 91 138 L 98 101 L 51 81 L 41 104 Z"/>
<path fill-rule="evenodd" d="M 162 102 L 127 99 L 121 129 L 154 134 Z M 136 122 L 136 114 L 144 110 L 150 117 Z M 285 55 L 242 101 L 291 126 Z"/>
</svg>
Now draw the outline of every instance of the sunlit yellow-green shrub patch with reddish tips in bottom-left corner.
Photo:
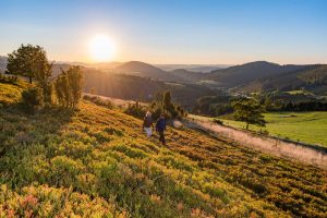
<svg viewBox="0 0 327 218">
<path fill-rule="evenodd" d="M 114 203 L 71 189 L 25 186 L 14 192 L 0 187 L 0 217 L 128 217 Z"/>
</svg>

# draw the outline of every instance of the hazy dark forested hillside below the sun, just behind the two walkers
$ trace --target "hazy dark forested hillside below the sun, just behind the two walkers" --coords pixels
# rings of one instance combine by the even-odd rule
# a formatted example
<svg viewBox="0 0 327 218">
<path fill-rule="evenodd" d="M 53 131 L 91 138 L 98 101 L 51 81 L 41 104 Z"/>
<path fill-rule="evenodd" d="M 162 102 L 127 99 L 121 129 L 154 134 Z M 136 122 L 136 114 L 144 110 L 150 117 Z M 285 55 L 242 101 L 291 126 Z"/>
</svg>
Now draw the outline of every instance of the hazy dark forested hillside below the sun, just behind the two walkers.
<svg viewBox="0 0 327 218">
<path fill-rule="evenodd" d="M 68 68 L 69 64 L 55 65 L 53 76 L 60 72 L 60 69 L 65 70 Z M 82 72 L 86 93 L 128 100 L 149 101 L 159 92 L 170 90 L 174 101 L 191 109 L 197 98 L 219 93 L 196 84 L 168 83 L 149 77 L 109 73 L 88 68 L 82 68 Z"/>
</svg>

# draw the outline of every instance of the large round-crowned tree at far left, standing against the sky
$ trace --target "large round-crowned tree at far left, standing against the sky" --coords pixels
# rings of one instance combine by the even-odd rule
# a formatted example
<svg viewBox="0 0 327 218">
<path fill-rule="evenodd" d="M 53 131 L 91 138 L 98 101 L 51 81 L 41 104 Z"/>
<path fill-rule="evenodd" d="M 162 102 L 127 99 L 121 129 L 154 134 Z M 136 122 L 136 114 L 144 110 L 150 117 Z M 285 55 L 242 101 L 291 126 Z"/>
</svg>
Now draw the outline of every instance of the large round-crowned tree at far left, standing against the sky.
<svg viewBox="0 0 327 218">
<path fill-rule="evenodd" d="M 7 73 L 26 76 L 29 83 L 34 77 L 50 77 L 50 66 L 47 53 L 40 46 L 21 45 L 17 50 L 8 55 Z"/>
</svg>

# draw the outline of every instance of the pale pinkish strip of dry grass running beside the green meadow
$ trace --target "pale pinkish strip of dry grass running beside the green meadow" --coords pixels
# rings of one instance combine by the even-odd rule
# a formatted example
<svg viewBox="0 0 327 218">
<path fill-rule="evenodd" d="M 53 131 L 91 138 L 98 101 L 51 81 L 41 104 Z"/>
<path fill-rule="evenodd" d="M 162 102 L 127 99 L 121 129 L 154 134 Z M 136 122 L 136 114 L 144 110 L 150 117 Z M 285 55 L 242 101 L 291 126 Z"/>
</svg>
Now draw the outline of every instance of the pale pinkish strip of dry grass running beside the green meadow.
<svg viewBox="0 0 327 218">
<path fill-rule="evenodd" d="M 327 170 L 327 154 L 314 148 L 305 147 L 294 143 L 286 143 L 265 136 L 254 135 L 241 130 L 215 124 L 209 121 L 186 120 L 184 124 L 193 129 L 202 129 L 230 138 L 238 144 L 271 154 L 278 157 L 296 159 L 299 161 L 317 166 Z"/>
</svg>

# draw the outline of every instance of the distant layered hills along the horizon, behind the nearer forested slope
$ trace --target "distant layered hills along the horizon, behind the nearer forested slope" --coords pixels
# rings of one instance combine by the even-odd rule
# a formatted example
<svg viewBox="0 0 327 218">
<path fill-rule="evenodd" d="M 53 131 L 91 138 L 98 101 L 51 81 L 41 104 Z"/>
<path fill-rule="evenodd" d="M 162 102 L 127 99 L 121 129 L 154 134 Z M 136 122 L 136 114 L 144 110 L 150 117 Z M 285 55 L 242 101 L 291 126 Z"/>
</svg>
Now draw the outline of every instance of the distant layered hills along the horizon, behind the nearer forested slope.
<svg viewBox="0 0 327 218">
<path fill-rule="evenodd" d="M 0 72 L 4 72 L 5 64 L 7 58 L 0 57 Z M 94 69 L 172 83 L 214 84 L 210 86 L 233 88 L 240 92 L 308 88 L 316 94 L 325 95 L 325 89 L 327 89 L 324 88 L 326 86 L 327 74 L 325 64 L 280 65 L 268 61 L 255 61 L 203 73 L 183 68 L 174 69 L 179 65 L 186 68 L 187 64 L 153 65 L 141 61 L 108 63 L 57 62 L 53 66 L 53 74 L 58 74 L 60 68 L 66 69 L 71 64 L 82 65 L 86 71 Z M 171 68 L 173 70 L 162 70 Z"/>
</svg>

